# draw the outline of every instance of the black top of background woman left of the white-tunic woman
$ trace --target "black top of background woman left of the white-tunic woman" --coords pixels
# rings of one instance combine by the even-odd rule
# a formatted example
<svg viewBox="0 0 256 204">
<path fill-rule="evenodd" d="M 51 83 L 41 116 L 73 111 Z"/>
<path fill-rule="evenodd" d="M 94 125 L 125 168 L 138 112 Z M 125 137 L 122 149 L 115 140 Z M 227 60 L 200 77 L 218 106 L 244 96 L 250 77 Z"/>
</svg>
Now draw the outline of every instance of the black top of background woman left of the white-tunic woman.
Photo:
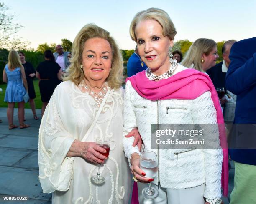
<svg viewBox="0 0 256 204">
<path fill-rule="evenodd" d="M 40 74 L 40 79 L 56 79 L 58 80 L 57 74 L 61 67 L 56 62 L 45 60 L 41 62 L 36 71 Z"/>
</svg>

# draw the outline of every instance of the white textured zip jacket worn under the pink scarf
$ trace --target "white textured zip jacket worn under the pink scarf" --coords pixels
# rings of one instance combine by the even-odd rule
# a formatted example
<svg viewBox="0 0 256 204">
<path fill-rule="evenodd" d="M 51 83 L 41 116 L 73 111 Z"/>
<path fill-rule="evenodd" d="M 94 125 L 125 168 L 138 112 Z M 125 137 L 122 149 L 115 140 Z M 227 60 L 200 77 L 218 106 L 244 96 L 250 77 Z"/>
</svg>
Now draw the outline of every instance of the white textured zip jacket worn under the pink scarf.
<svg viewBox="0 0 256 204">
<path fill-rule="evenodd" d="M 174 74 L 186 69 L 179 65 Z M 163 90 L 164 91 L 164 90 Z M 168 108 L 168 114 L 166 109 Z M 127 135 L 138 127 L 145 150 L 158 154 L 159 175 L 154 184 L 167 189 L 184 189 L 205 183 L 204 197 L 216 199 L 221 197 L 222 149 L 151 149 L 151 124 L 216 124 L 217 114 L 210 91 L 194 100 L 147 100 L 136 92 L 128 80 L 124 93 L 124 132 Z M 212 134 L 212 139 L 219 142 L 219 132 Z M 140 153 L 138 147 L 132 147 L 133 137 L 123 137 L 125 156 L 129 159 L 134 152 Z M 179 153 L 179 157 L 175 153 Z"/>
</svg>

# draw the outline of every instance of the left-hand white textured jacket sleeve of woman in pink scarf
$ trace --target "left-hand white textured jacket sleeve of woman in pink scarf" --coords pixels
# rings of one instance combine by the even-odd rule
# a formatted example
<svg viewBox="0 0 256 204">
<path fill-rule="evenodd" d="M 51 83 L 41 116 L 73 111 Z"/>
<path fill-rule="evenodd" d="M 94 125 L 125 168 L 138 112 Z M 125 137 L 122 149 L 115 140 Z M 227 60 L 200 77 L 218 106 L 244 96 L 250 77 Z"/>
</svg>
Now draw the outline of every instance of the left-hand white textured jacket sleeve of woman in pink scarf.
<svg viewBox="0 0 256 204">
<path fill-rule="evenodd" d="M 131 82 L 128 80 L 126 85 L 125 85 L 125 92 L 124 92 L 124 97 L 123 97 L 123 149 L 125 152 L 125 156 L 129 160 L 129 165 L 131 167 L 130 159 L 131 159 L 131 154 L 137 152 L 140 154 L 140 151 L 137 146 L 133 147 L 133 141 L 134 137 L 125 137 L 131 130 L 137 127 L 137 122 L 136 122 L 136 117 L 135 113 L 133 111 L 133 105 L 131 102 L 131 97 L 130 97 L 130 91 L 133 89 L 131 86 Z"/>
</svg>

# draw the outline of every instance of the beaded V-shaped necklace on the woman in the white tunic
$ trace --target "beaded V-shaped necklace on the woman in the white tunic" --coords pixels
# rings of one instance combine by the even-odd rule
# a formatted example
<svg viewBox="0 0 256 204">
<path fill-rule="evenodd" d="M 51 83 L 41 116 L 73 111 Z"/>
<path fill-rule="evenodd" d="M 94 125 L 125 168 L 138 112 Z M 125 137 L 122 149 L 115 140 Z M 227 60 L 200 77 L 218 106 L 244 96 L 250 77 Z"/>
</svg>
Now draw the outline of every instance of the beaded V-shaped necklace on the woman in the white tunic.
<svg viewBox="0 0 256 204">
<path fill-rule="evenodd" d="M 90 87 L 84 82 L 84 80 L 82 80 L 78 86 L 82 92 L 89 94 L 95 100 L 98 107 L 100 107 L 100 104 L 102 103 L 107 91 L 110 89 L 108 82 L 105 82 L 104 87 L 100 90 L 99 93 L 95 93 L 93 90 L 91 90 Z"/>
</svg>

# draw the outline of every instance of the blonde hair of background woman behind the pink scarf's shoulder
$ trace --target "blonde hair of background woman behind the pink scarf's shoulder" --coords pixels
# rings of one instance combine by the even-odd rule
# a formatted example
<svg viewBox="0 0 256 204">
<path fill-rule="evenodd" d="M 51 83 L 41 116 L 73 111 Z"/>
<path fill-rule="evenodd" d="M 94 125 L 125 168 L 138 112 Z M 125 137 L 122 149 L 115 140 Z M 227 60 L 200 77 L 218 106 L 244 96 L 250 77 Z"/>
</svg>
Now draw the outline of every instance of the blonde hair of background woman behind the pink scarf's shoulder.
<svg viewBox="0 0 256 204">
<path fill-rule="evenodd" d="M 205 55 L 208 56 L 216 45 L 217 45 L 216 42 L 211 39 L 207 39 L 207 38 L 197 39 L 189 47 L 189 50 L 187 51 L 186 56 L 184 57 L 182 62 L 180 62 L 180 64 L 185 67 L 194 68 L 200 72 L 203 72 L 202 62 L 201 62 L 202 53 L 205 53 Z M 194 64 L 194 67 L 191 67 L 192 64 Z"/>
</svg>

